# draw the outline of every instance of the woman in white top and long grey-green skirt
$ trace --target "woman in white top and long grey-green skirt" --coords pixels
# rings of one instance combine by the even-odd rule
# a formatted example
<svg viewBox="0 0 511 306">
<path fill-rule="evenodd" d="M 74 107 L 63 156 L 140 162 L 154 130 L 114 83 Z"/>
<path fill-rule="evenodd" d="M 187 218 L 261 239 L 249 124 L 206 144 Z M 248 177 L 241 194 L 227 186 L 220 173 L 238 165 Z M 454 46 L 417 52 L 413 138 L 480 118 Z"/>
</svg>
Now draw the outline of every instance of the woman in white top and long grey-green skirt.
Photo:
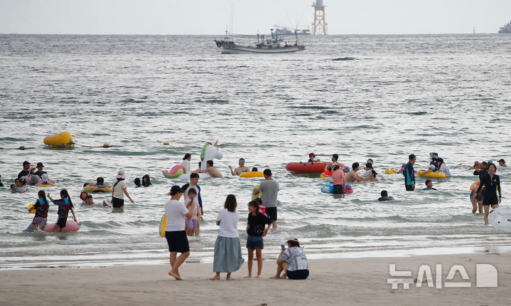
<svg viewBox="0 0 511 306">
<path fill-rule="evenodd" d="M 240 211 L 236 210 L 236 196 L 230 194 L 225 199 L 224 209 L 218 212 L 217 241 L 215 241 L 215 257 L 213 259 L 213 272 L 216 275 L 210 280 L 220 280 L 220 273 L 227 272 L 227 280 L 231 280 L 231 273 L 239 270 L 244 262 L 242 247 L 238 235 L 238 221 Z"/>
</svg>

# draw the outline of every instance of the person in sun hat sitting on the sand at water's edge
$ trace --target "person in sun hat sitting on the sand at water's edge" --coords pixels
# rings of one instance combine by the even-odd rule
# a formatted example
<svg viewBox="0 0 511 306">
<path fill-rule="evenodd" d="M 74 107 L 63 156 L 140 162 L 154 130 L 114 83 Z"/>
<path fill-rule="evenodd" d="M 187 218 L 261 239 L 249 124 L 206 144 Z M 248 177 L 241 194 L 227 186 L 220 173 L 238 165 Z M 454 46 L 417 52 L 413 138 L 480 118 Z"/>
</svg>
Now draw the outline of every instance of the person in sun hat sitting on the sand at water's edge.
<svg viewBox="0 0 511 306">
<path fill-rule="evenodd" d="M 282 247 L 279 257 L 276 259 L 276 274 L 272 279 L 305 280 L 308 278 L 307 256 L 300 248 L 298 238 L 291 237 L 287 241 L 287 247 Z M 282 273 L 284 271 L 284 273 Z M 282 274 L 282 275 L 281 275 Z"/>
</svg>

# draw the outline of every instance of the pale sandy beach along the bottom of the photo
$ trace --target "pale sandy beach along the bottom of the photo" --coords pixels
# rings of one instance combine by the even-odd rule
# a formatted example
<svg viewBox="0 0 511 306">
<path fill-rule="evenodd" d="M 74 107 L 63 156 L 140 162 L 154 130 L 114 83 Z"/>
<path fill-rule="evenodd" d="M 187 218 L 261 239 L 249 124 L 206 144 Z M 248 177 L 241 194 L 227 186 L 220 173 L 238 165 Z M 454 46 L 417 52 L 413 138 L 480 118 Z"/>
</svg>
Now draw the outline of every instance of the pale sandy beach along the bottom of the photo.
<svg viewBox="0 0 511 306">
<path fill-rule="evenodd" d="M 442 288 L 412 283 L 397 290 L 387 284 L 389 263 L 397 271 L 411 270 L 416 282 L 420 265 L 429 265 L 436 286 L 436 264 L 442 264 Z M 476 264 L 490 263 L 498 272 L 498 287 L 476 287 Z M 463 265 L 470 287 L 445 287 L 452 265 Z M 257 263 L 254 263 L 254 268 Z M 216 280 L 213 264 L 181 266 L 184 281 L 167 275 L 170 265 L 106 268 L 43 268 L 0 272 L 1 305 L 509 305 L 511 253 L 421 255 L 402 258 L 309 260 L 308 280 L 270 280 L 274 261 L 265 261 L 263 279 Z M 225 274 L 222 274 L 225 278 Z M 57 288 L 58 287 L 58 288 Z"/>
</svg>

